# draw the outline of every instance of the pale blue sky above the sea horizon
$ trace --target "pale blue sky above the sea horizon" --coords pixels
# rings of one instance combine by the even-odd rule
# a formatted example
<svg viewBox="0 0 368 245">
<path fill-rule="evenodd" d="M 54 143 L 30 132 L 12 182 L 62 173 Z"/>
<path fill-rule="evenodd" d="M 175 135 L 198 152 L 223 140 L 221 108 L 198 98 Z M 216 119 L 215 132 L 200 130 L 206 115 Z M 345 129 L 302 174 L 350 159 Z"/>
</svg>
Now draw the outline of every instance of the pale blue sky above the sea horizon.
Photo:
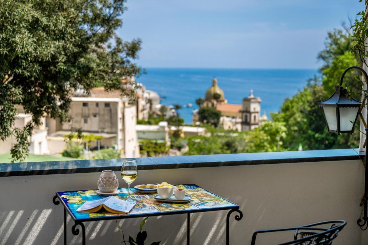
<svg viewBox="0 0 368 245">
<path fill-rule="evenodd" d="M 364 1 L 363 1 L 364 2 Z M 326 33 L 358 0 L 128 0 L 124 40 L 143 40 L 143 67 L 317 68 Z"/>
</svg>

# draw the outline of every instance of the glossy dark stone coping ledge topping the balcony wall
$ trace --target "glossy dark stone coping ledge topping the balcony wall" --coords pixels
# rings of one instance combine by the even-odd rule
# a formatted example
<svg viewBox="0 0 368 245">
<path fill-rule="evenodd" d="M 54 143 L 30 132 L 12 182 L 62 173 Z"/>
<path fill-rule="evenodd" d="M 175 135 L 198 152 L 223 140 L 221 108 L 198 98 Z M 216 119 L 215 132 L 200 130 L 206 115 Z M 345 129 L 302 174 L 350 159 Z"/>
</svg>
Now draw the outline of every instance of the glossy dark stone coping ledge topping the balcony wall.
<svg viewBox="0 0 368 245">
<path fill-rule="evenodd" d="M 221 167 L 257 164 L 302 163 L 314 161 L 359 160 L 364 152 L 358 149 L 305 150 L 197 156 L 129 158 L 137 161 L 138 170 L 167 168 Z M 97 173 L 120 171 L 124 159 L 45 161 L 0 163 L 0 177 L 43 174 Z"/>
</svg>

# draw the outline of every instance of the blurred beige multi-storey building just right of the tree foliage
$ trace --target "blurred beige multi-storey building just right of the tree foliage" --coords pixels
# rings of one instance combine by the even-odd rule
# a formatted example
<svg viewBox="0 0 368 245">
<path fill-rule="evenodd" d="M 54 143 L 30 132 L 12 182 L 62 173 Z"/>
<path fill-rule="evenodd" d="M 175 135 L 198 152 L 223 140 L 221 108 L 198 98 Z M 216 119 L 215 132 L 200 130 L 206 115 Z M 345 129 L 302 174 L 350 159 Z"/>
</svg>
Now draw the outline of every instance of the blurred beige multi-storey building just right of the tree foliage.
<svg viewBox="0 0 368 245">
<path fill-rule="evenodd" d="M 65 149 L 63 136 L 81 128 L 82 134 L 102 136 L 100 142 L 91 142 L 89 147 L 106 145 L 120 151 L 121 157 L 139 157 L 136 105 L 129 104 L 118 92 L 95 90 L 92 89 L 91 96 L 71 98 L 69 123 L 60 124 L 59 120 L 47 118 L 47 138 L 52 151 L 62 152 Z"/>
</svg>

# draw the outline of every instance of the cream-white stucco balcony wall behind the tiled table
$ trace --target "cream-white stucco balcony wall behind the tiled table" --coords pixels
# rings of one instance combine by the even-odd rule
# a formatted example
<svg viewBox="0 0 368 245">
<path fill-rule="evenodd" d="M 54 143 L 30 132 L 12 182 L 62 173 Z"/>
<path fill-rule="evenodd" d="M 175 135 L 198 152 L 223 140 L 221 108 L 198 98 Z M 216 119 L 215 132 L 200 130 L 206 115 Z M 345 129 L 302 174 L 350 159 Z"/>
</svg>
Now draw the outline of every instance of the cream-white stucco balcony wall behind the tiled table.
<svg viewBox="0 0 368 245">
<path fill-rule="evenodd" d="M 139 170 L 139 168 L 138 168 Z M 334 245 L 366 244 L 368 231 L 356 221 L 363 194 L 363 166 L 359 160 L 271 165 L 141 170 L 134 184 L 167 181 L 195 183 L 240 206 L 244 217 L 230 221 L 230 244 L 250 244 L 252 232 L 344 219 L 347 226 Z M 99 173 L 0 177 L 0 245 L 62 244 L 63 209 L 54 206 L 55 191 L 96 188 Z M 126 184 L 120 180 L 120 187 Z M 227 211 L 191 216 L 191 244 L 225 244 Z M 234 214 L 233 214 L 234 216 Z M 125 234 L 135 237 L 141 218 L 120 221 Z M 81 243 L 71 234 L 68 244 Z M 115 221 L 85 223 L 87 244 L 120 244 Z M 186 215 L 150 217 L 147 243 L 185 244 Z M 293 232 L 283 234 L 293 239 Z M 279 236 L 266 237 L 277 244 Z M 286 238 L 284 238 L 286 239 Z M 367 240 L 364 240 L 367 241 Z M 260 240 L 258 244 L 268 244 Z"/>
</svg>

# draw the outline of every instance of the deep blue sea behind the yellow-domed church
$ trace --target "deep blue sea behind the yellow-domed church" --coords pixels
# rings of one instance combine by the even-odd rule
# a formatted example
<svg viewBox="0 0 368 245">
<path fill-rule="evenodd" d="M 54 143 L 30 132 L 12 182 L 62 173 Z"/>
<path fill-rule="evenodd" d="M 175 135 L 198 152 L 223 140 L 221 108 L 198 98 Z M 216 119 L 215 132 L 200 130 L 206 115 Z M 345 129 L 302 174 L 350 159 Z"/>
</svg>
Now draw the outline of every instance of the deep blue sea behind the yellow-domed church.
<svg viewBox="0 0 368 245">
<path fill-rule="evenodd" d="M 147 74 L 137 78 L 146 89 L 157 92 L 164 105 L 180 104 L 180 117 L 186 124 L 192 122 L 195 100 L 204 98 L 212 85 L 213 76 L 223 90 L 227 103 L 241 104 L 253 89 L 260 97 L 261 114 L 277 112 L 287 97 L 301 90 L 315 69 L 202 69 L 202 68 L 146 68 Z M 192 107 L 188 107 L 192 104 Z M 270 118 L 270 117 L 269 117 Z"/>
</svg>

